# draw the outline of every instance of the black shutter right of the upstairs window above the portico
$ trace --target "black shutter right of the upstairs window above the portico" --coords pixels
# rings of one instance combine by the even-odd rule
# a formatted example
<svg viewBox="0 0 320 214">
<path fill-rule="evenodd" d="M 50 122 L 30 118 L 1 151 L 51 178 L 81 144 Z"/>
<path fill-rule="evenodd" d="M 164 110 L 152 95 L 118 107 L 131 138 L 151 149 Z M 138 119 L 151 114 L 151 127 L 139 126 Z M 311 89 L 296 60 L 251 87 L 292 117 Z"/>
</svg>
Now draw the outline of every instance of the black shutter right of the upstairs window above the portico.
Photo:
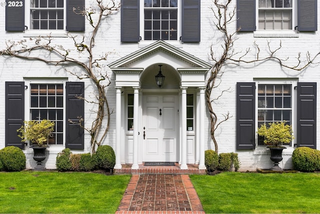
<svg viewBox="0 0 320 214">
<path fill-rule="evenodd" d="M 200 41 L 200 0 L 182 0 L 181 41 Z"/>
</svg>

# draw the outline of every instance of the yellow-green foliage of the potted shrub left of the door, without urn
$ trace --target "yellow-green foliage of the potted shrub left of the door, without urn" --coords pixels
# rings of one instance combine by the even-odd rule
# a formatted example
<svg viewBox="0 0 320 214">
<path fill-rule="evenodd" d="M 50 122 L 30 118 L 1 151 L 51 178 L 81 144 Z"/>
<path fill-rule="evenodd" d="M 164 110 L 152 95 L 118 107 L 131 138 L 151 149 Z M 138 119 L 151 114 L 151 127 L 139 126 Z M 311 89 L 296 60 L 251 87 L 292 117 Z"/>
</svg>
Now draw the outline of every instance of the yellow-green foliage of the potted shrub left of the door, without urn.
<svg viewBox="0 0 320 214">
<path fill-rule="evenodd" d="M 16 131 L 22 142 L 29 140 L 30 144 L 36 143 L 39 146 L 42 146 L 44 142 L 47 142 L 47 139 L 51 136 L 53 130 L 54 122 L 48 119 L 42 119 L 41 121 L 24 121 L 24 125 Z"/>
</svg>

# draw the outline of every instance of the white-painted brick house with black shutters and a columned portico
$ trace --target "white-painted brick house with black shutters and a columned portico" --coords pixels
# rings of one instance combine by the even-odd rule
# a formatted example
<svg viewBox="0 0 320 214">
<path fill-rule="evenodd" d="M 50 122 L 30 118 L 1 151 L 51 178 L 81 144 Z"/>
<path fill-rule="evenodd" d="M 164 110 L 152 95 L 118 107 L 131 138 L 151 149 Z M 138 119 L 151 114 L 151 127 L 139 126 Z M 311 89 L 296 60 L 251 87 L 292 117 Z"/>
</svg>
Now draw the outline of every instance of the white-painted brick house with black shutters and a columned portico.
<svg viewBox="0 0 320 214">
<path fill-rule="evenodd" d="M 82 36 L 91 30 L 83 16 L 71 12 L 72 7 L 94 7 L 95 1 L 83 4 L 84 0 L 3 0 L 0 49 L 7 40 L 49 33 L 53 42 L 74 49 L 64 34 L 70 31 Z M 102 23 L 94 53 L 112 52 L 105 70 L 111 79 L 107 98 L 113 113 L 103 144 L 115 150 L 115 168 L 124 163 L 138 168 L 145 161 L 205 167 L 204 150 L 214 146 L 204 92 L 214 63 L 210 51 L 219 56 L 223 44 L 212 21 L 211 6 L 214 8 L 211 0 L 122 0 L 121 9 Z M 233 48 L 235 52 L 250 48 L 245 59 L 256 57 L 254 43 L 260 47 L 259 57 L 267 55 L 268 42 L 271 49 L 281 43 L 276 56 L 288 57 L 285 63 L 289 66 L 296 64 L 299 52 L 305 60 L 307 52 L 313 57 L 320 51 L 317 0 L 232 0 L 230 10 L 234 6 L 236 15 L 228 30 L 232 33 L 241 27 Z M 75 51 L 70 54 L 81 57 Z M 2 55 L 0 61 L 0 148 L 21 147 L 27 167 L 33 167 L 33 151 L 16 137 L 16 129 L 23 120 L 46 117 L 56 122 L 46 168 L 55 168 L 56 155 L 65 147 L 73 153 L 89 152 L 89 134 L 71 127 L 67 120 L 83 114 L 84 125 L 91 124 L 94 105 L 74 99 L 74 94 L 90 99 L 92 83 L 77 79 L 62 66 L 37 60 Z M 161 87 L 154 78 L 159 65 L 165 76 Z M 67 69 L 81 72 L 77 67 Z M 255 133 L 263 122 L 286 120 L 292 124 L 295 138 L 283 151 L 283 168 L 292 168 L 291 154 L 296 146 L 320 146 L 316 134 L 320 122 L 316 108 L 320 104 L 316 99 L 320 94 L 316 87 L 318 64 L 295 71 L 266 60 L 228 64 L 223 71 L 211 98 L 227 90 L 213 101 L 213 107 L 219 119 L 227 112 L 232 117 L 219 125 L 215 137 L 219 152 L 238 153 L 240 170 L 273 165 L 268 149 Z"/>
</svg>

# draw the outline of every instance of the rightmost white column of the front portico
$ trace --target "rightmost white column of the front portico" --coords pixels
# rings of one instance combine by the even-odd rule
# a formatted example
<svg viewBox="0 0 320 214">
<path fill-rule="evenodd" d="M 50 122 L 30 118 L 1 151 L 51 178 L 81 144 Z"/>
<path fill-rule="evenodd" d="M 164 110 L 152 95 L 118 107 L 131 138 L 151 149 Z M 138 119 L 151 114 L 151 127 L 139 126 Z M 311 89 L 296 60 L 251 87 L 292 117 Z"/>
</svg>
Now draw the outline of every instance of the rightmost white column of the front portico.
<svg viewBox="0 0 320 214">
<path fill-rule="evenodd" d="M 199 101 L 199 169 L 206 169 L 204 165 L 204 112 L 205 112 L 205 100 L 204 100 L 204 88 L 200 87 L 200 101 Z"/>
</svg>

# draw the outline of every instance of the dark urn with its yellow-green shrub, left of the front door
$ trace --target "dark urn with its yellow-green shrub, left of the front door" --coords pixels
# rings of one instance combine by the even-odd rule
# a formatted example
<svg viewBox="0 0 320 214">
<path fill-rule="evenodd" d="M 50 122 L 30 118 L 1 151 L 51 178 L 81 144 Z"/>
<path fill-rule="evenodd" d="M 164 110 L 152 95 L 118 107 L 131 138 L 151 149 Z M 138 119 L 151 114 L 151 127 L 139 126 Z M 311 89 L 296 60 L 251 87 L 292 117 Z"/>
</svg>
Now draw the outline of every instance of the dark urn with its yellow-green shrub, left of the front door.
<svg viewBox="0 0 320 214">
<path fill-rule="evenodd" d="M 21 141 L 29 141 L 30 147 L 33 149 L 33 159 L 37 161 L 35 169 L 44 168 L 41 161 L 45 159 L 45 150 L 48 147 L 47 140 L 53 130 L 54 122 L 47 119 L 24 121 L 24 125 L 17 129 Z"/>
</svg>

